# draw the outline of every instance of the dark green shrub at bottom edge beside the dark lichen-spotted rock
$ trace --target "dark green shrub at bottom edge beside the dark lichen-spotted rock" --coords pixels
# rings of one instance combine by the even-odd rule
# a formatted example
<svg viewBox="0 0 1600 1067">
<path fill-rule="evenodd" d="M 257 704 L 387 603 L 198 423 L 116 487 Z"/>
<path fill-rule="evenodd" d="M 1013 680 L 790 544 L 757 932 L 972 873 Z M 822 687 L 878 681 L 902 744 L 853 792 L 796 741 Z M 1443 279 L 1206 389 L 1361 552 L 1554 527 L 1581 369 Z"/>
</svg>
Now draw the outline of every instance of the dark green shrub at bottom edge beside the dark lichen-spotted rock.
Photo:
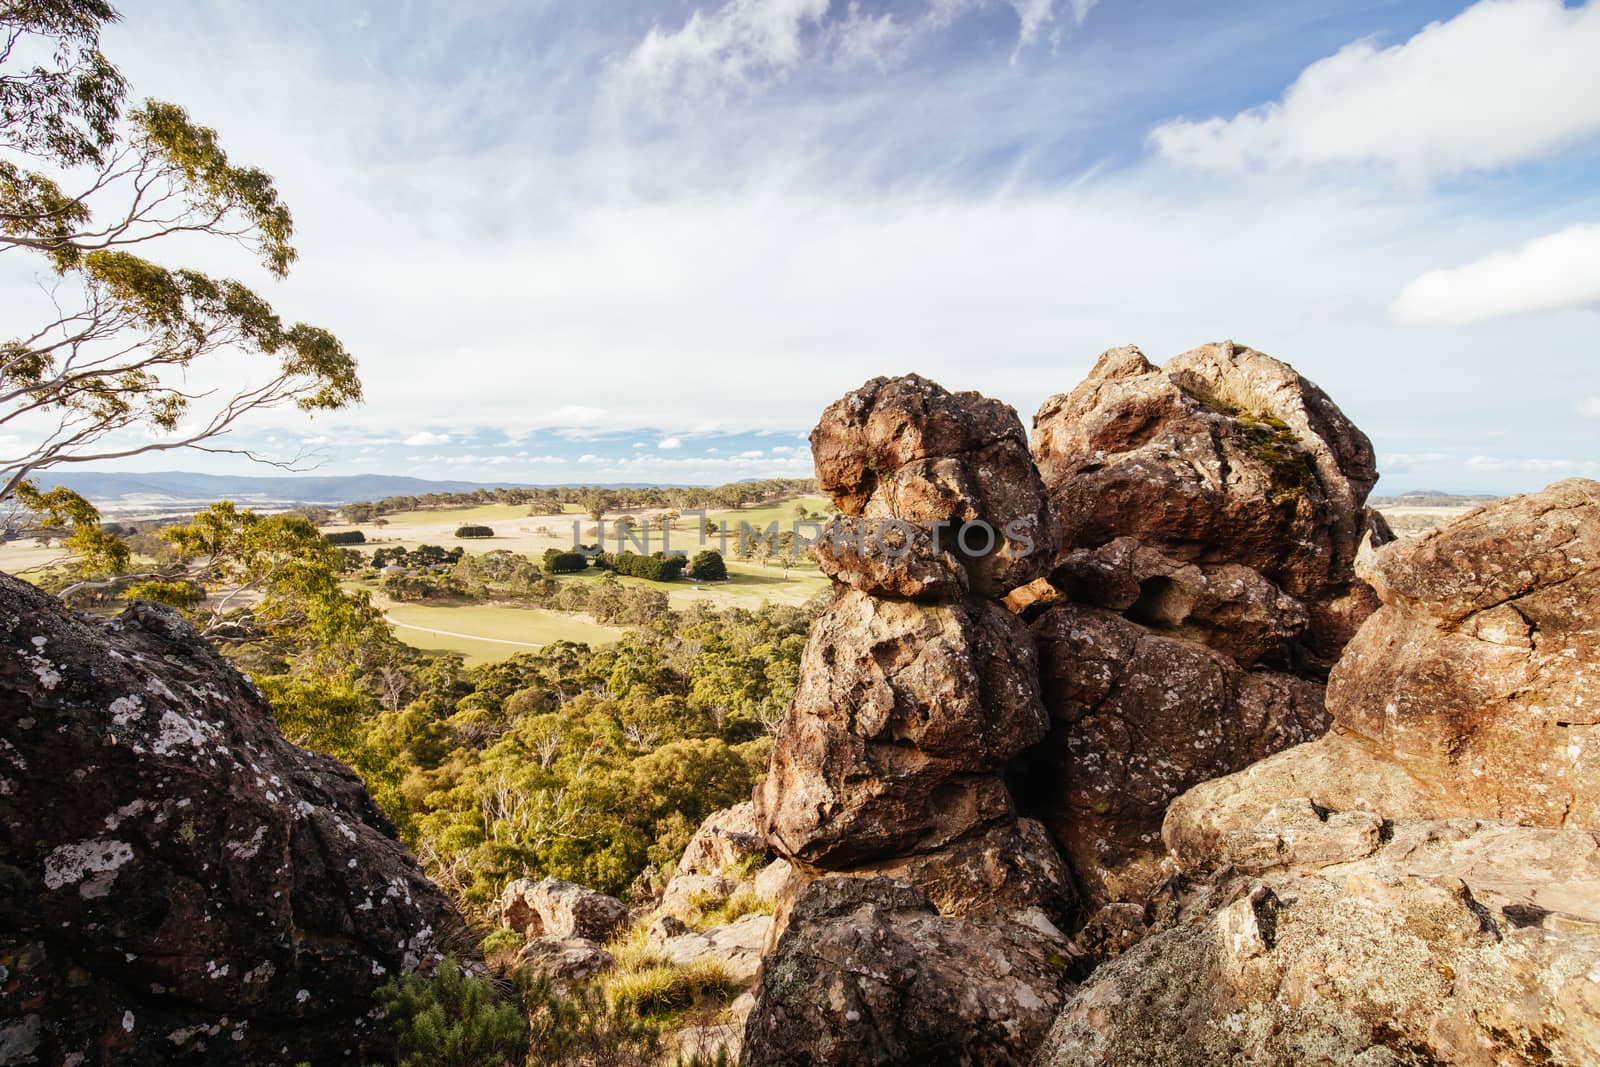
<svg viewBox="0 0 1600 1067">
<path fill-rule="evenodd" d="M 378 1005 L 394 1025 L 400 1067 L 504 1067 L 528 1048 L 522 1006 L 450 957 L 429 977 L 387 982 Z"/>
</svg>

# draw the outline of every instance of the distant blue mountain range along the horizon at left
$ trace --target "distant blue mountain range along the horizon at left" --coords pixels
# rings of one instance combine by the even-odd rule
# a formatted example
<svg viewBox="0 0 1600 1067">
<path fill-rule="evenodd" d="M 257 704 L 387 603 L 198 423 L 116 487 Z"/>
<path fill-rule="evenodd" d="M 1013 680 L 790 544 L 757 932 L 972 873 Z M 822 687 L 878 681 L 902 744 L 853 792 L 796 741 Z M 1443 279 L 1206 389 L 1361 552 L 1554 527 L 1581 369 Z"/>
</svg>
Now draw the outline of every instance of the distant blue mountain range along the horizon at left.
<svg viewBox="0 0 1600 1067">
<path fill-rule="evenodd" d="M 218 475 L 187 470 L 133 474 L 122 470 L 46 470 L 35 477 L 40 488 L 64 485 L 80 493 L 106 514 L 165 515 L 189 506 L 229 499 L 251 507 L 299 507 L 304 504 L 349 504 L 386 496 L 426 493 L 470 493 L 493 488 L 536 488 L 512 482 L 432 482 L 387 474 L 352 475 Z M 606 488 L 635 490 L 646 483 L 608 483 Z M 566 486 L 544 486 L 566 488 Z"/>
</svg>

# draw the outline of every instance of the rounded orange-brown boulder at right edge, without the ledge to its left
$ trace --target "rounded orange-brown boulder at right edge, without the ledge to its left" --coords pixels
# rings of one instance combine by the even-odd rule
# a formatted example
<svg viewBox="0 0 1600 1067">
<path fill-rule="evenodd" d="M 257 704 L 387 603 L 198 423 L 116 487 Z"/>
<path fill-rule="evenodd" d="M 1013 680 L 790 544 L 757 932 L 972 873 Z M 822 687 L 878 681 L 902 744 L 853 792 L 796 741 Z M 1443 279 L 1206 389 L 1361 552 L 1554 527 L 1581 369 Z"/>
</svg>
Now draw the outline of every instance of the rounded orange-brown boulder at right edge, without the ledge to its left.
<svg viewBox="0 0 1600 1067">
<path fill-rule="evenodd" d="M 1381 552 L 1328 710 L 1466 809 L 1600 827 L 1600 483 L 1507 498 Z"/>
</svg>

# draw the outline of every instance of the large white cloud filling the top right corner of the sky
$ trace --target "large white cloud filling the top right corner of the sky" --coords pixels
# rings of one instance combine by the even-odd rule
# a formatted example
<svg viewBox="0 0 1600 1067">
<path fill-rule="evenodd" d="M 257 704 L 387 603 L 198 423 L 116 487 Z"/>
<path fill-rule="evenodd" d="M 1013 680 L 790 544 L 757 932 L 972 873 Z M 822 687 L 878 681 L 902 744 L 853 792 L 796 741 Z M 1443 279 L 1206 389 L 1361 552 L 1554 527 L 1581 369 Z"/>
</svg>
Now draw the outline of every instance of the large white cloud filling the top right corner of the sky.
<svg viewBox="0 0 1600 1067">
<path fill-rule="evenodd" d="M 1386 163 L 1411 181 L 1539 158 L 1600 131 L 1600 3 L 1482 0 L 1411 40 L 1346 45 L 1280 101 L 1176 120 L 1150 139 L 1189 166 Z"/>
</svg>

